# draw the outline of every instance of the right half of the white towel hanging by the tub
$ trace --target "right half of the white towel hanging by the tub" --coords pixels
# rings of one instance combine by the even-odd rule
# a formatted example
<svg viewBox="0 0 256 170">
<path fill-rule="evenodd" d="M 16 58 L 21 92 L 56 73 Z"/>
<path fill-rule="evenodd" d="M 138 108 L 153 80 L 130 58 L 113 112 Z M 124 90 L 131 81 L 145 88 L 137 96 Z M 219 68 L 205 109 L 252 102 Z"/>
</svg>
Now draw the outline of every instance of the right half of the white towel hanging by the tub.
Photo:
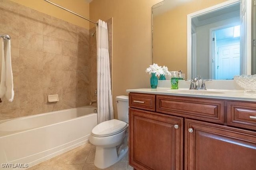
<svg viewBox="0 0 256 170">
<path fill-rule="evenodd" d="M 6 41 L 5 58 L 6 58 L 6 93 L 5 97 L 8 101 L 12 102 L 14 98 L 13 90 L 13 76 L 12 76 L 12 60 L 11 60 L 11 40 Z"/>
</svg>

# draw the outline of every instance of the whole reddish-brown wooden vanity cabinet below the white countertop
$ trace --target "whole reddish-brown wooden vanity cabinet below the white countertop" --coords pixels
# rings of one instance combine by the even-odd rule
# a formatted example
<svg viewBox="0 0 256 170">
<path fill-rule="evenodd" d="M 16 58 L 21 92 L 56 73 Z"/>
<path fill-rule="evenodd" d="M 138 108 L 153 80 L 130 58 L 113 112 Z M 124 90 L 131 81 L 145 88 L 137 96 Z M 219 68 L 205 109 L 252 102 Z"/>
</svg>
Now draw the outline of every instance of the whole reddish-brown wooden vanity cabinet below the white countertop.
<svg viewBox="0 0 256 170">
<path fill-rule="evenodd" d="M 129 93 L 129 103 L 136 170 L 256 169 L 255 102 Z"/>
</svg>

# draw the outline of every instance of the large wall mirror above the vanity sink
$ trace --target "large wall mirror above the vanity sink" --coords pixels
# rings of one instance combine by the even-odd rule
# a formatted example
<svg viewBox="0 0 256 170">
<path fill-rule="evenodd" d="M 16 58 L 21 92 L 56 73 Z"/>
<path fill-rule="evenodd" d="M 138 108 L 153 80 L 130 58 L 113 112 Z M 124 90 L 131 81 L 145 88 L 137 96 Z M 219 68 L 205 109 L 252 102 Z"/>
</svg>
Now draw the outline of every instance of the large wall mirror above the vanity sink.
<svg viewBox="0 0 256 170">
<path fill-rule="evenodd" d="M 252 0 L 164 0 L 152 6 L 153 63 L 186 79 L 251 74 Z"/>
</svg>

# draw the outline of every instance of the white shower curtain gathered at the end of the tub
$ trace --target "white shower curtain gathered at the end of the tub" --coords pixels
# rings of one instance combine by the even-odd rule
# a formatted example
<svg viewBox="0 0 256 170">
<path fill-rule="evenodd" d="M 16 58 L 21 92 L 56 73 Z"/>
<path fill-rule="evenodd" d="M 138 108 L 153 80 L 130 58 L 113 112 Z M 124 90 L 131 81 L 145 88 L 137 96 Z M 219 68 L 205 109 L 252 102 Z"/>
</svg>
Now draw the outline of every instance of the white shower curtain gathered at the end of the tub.
<svg viewBox="0 0 256 170">
<path fill-rule="evenodd" d="M 98 123 L 102 123 L 114 119 L 108 53 L 108 26 L 102 20 L 98 20 L 96 27 L 96 42 Z"/>
</svg>

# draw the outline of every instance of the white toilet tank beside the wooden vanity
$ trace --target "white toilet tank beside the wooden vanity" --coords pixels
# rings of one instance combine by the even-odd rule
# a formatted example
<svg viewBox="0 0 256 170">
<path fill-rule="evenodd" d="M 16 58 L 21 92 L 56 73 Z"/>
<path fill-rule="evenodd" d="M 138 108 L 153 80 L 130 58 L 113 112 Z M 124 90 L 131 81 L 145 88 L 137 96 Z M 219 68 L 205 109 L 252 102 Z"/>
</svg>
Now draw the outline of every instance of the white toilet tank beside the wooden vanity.
<svg viewBox="0 0 256 170">
<path fill-rule="evenodd" d="M 118 120 L 128 123 L 129 117 L 129 97 L 128 96 L 117 96 L 117 115 Z"/>
</svg>

